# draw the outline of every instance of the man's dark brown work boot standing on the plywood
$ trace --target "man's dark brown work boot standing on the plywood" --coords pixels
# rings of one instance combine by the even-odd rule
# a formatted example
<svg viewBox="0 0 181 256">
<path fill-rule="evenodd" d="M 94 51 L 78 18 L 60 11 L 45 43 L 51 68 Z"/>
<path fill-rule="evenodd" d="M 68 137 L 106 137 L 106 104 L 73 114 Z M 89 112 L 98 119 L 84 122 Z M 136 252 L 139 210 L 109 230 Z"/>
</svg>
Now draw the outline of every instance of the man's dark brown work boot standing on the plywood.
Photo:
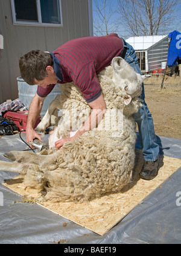
<svg viewBox="0 0 181 256">
<path fill-rule="evenodd" d="M 156 161 L 145 161 L 141 173 L 139 173 L 140 178 L 147 180 L 154 179 L 158 173 L 158 162 L 159 159 Z"/>
</svg>

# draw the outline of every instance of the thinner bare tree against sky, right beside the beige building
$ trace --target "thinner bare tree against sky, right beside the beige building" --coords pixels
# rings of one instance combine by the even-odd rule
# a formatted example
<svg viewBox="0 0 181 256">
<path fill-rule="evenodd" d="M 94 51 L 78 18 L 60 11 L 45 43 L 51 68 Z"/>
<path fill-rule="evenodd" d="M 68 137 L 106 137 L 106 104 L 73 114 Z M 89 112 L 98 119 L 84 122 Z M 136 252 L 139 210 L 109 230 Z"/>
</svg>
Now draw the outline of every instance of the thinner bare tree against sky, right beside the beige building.
<svg viewBox="0 0 181 256">
<path fill-rule="evenodd" d="M 97 18 L 94 19 L 95 36 L 104 36 L 116 31 L 116 18 L 114 19 L 115 10 L 112 9 L 112 0 L 94 0 Z"/>
</svg>

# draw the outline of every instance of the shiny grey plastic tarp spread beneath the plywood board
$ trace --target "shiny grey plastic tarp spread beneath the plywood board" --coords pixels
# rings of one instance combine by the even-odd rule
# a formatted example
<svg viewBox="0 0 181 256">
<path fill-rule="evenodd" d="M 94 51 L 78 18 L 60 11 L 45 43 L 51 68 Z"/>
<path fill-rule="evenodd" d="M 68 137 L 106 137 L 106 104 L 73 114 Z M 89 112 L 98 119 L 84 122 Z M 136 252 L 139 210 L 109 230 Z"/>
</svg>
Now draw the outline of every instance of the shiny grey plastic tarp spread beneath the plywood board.
<svg viewBox="0 0 181 256">
<path fill-rule="evenodd" d="M 25 138 L 25 134 L 22 135 Z M 157 136 L 160 154 L 181 158 L 181 140 Z M 140 148 L 139 135 L 136 147 Z M 19 135 L 0 139 L 0 159 L 10 150 L 24 150 Z M 0 166 L 1 170 L 1 166 Z M 181 168 L 167 179 L 162 188 L 147 196 L 105 235 L 95 234 L 42 206 L 22 203 L 21 196 L 1 183 L 18 174 L 0 171 L 0 243 L 120 244 L 181 243 Z M 176 196 L 180 191 L 180 199 Z M 20 201 L 16 202 L 15 201 Z M 63 226 L 66 222 L 68 225 Z"/>
</svg>

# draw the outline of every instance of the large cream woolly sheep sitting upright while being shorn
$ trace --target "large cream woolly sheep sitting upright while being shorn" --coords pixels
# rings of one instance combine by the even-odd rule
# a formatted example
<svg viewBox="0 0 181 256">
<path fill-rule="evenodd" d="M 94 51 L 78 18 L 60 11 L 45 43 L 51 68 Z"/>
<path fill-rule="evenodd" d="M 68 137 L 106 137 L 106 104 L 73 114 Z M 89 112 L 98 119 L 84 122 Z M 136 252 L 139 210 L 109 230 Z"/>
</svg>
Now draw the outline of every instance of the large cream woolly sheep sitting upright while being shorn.
<svg viewBox="0 0 181 256">
<path fill-rule="evenodd" d="M 50 103 L 36 129 L 45 130 L 56 109 L 62 110 L 50 136 L 52 148 L 36 154 L 6 153 L 4 156 L 15 162 L 0 161 L 1 170 L 21 173 L 24 184 L 36 189 L 42 200 L 83 202 L 121 191 L 132 179 L 136 142 L 133 114 L 141 106 L 138 96 L 145 78 L 121 57 L 113 58 L 98 74 L 107 107 L 103 120 L 96 129 L 55 150 L 51 138 L 70 136 L 91 111 L 73 82 L 62 85 L 62 93 Z"/>
</svg>

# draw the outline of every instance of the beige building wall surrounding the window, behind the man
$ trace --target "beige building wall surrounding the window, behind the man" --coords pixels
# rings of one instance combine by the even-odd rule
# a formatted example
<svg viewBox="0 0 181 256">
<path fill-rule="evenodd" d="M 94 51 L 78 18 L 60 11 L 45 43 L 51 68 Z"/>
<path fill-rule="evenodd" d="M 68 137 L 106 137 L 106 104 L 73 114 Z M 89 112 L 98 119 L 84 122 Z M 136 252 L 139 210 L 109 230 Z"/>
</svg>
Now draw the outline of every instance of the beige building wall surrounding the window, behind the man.
<svg viewBox="0 0 181 256">
<path fill-rule="evenodd" d="M 10 0 L 0 0 L 0 104 L 18 97 L 19 58 L 28 51 L 53 51 L 68 40 L 89 36 L 88 0 L 62 0 L 63 27 L 13 25 Z"/>
</svg>

